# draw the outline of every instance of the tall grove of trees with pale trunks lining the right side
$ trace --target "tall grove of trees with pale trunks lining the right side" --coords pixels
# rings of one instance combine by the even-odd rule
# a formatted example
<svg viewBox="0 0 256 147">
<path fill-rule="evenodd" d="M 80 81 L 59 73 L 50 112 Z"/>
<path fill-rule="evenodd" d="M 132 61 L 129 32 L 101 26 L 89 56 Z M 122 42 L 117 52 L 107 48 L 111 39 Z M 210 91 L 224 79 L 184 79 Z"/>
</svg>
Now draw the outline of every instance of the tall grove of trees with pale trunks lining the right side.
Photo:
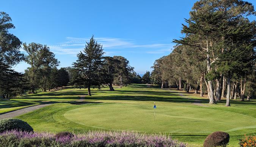
<svg viewBox="0 0 256 147">
<path fill-rule="evenodd" d="M 226 95 L 241 101 L 256 96 L 256 22 L 251 3 L 242 0 L 199 0 L 185 19 L 177 45 L 170 55 L 152 66 L 151 78 L 162 87 L 174 86 L 200 96 L 210 104 Z"/>
</svg>

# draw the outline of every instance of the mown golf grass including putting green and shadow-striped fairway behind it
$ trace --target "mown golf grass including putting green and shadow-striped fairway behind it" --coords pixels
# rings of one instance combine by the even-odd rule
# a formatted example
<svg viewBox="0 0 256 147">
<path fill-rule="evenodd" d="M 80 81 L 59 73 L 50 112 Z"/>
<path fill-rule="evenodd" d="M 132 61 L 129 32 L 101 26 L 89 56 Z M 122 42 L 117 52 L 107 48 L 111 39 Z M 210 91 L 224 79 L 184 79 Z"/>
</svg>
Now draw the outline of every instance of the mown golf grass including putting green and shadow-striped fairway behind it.
<svg viewBox="0 0 256 147">
<path fill-rule="evenodd" d="M 27 121 L 36 131 L 77 133 L 88 130 L 133 130 L 142 133 L 165 133 L 202 146 L 207 135 L 224 131 L 231 135 L 229 146 L 239 146 L 238 138 L 256 132 L 256 101 L 231 100 L 208 104 L 205 97 L 183 91 L 130 85 L 114 92 L 108 88 L 93 89 L 86 102 L 76 102 L 85 89 L 63 89 L 20 97 L 22 101 L 54 101 L 56 103 L 18 118 Z M 154 121 L 154 102 L 157 105 Z M 225 100 L 223 100 L 225 102 Z"/>
</svg>

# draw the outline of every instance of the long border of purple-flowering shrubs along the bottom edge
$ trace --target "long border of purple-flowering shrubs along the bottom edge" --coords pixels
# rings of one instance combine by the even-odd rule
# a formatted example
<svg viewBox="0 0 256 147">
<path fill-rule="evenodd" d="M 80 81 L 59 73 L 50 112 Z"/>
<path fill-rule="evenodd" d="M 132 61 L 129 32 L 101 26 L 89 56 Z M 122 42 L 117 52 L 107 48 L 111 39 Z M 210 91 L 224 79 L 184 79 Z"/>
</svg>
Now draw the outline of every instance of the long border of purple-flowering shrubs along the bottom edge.
<svg viewBox="0 0 256 147">
<path fill-rule="evenodd" d="M 0 147 L 186 147 L 165 135 L 100 131 L 57 138 L 51 133 L 11 130 L 0 133 L 0 142 Z"/>
</svg>

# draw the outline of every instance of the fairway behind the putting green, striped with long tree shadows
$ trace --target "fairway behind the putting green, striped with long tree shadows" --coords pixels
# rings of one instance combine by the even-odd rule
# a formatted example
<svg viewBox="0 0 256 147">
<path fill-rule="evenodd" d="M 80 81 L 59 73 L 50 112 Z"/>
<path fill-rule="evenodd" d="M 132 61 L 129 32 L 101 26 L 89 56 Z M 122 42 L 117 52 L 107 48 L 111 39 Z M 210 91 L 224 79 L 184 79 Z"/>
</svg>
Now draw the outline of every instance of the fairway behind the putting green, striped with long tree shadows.
<svg viewBox="0 0 256 147">
<path fill-rule="evenodd" d="M 115 91 L 109 90 L 92 90 L 91 94 L 93 96 L 86 96 L 86 90 L 65 90 L 65 91 L 56 91 L 56 92 L 45 92 L 38 93 L 33 95 L 22 96 L 19 98 L 28 98 L 37 101 L 38 103 L 44 103 L 40 101 L 42 99 L 57 99 L 53 100 L 60 102 L 61 100 L 65 101 L 67 99 L 73 99 L 73 101 L 79 100 L 80 95 L 85 95 L 85 99 L 88 100 L 132 100 L 132 101 L 161 101 L 161 102 L 172 102 L 172 103 L 209 103 L 209 100 L 206 98 L 190 98 L 190 95 L 181 96 L 183 93 L 186 93 L 182 90 L 173 91 L 176 89 L 161 89 L 155 87 L 147 87 L 146 84 L 132 84 L 127 86 L 127 88 L 133 89 L 116 89 Z M 68 89 L 68 88 L 67 88 Z M 116 95 L 115 95 L 116 94 Z M 133 95 L 132 95 L 133 94 Z M 37 97 L 38 96 L 38 97 Z M 192 95 L 193 96 L 193 95 Z M 194 97 L 194 96 L 193 96 Z M 17 99 L 19 99 L 17 98 Z M 225 100 L 222 100 L 224 102 Z M 67 103 L 67 102 L 63 102 Z M 256 102 L 241 102 L 241 101 L 231 101 L 232 105 L 251 105 L 256 106 Z M 1 106 L 0 106 L 1 107 Z"/>
</svg>

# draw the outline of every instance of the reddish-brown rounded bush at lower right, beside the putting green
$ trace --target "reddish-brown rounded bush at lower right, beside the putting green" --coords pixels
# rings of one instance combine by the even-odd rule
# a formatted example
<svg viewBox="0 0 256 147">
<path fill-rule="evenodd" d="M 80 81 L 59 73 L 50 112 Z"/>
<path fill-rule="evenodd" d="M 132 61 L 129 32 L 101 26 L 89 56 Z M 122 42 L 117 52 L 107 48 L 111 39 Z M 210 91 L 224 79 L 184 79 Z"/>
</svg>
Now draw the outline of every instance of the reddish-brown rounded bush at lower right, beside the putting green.
<svg viewBox="0 0 256 147">
<path fill-rule="evenodd" d="M 229 134 L 226 132 L 213 132 L 204 141 L 204 147 L 226 147 L 229 142 Z"/>
</svg>

